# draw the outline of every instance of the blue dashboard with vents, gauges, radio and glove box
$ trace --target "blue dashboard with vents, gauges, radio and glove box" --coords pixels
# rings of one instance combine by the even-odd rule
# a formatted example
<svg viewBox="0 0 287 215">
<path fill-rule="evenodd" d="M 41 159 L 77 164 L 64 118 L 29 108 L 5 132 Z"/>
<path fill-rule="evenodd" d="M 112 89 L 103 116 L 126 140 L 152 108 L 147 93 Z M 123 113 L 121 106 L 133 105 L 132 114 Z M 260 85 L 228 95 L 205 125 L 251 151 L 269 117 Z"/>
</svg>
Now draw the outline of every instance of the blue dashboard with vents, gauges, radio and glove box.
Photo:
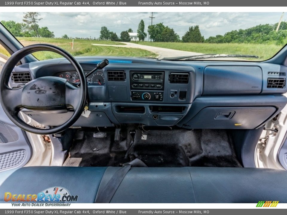
<svg viewBox="0 0 287 215">
<path fill-rule="evenodd" d="M 254 129 L 276 116 L 286 105 L 287 67 L 261 62 L 162 61 L 127 57 L 77 58 L 85 74 L 102 59 L 110 64 L 87 79 L 88 118 L 75 127 L 138 123 L 188 129 Z M 43 76 L 79 83 L 64 59 L 15 67 L 10 86 Z M 68 113 L 22 110 L 43 125 L 57 126 Z"/>
</svg>

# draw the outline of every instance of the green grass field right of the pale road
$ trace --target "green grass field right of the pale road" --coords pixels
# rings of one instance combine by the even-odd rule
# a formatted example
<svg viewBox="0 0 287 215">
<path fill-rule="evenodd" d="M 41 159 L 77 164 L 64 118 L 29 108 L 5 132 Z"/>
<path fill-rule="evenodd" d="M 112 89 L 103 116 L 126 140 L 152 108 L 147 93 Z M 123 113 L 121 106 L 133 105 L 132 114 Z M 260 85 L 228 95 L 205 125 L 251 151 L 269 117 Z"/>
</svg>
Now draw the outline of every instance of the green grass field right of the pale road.
<svg viewBox="0 0 287 215">
<path fill-rule="evenodd" d="M 191 51 L 204 54 L 247 54 L 257 55 L 266 60 L 274 56 L 283 46 L 275 44 L 245 44 L 245 43 L 182 43 L 182 42 L 135 42 L 142 45 Z"/>
</svg>

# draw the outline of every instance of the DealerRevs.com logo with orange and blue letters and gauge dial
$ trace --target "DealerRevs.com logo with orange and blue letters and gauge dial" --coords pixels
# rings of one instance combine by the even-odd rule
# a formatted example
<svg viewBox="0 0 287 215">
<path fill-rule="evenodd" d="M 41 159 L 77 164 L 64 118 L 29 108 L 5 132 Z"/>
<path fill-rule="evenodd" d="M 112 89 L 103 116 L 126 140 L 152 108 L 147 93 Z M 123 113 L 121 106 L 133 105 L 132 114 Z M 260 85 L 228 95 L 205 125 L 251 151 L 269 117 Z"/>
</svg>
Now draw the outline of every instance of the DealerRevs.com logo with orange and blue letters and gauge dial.
<svg viewBox="0 0 287 215">
<path fill-rule="evenodd" d="M 5 202 L 77 202 L 78 196 L 73 196 L 62 187 L 51 187 L 38 194 L 4 193 Z"/>
</svg>

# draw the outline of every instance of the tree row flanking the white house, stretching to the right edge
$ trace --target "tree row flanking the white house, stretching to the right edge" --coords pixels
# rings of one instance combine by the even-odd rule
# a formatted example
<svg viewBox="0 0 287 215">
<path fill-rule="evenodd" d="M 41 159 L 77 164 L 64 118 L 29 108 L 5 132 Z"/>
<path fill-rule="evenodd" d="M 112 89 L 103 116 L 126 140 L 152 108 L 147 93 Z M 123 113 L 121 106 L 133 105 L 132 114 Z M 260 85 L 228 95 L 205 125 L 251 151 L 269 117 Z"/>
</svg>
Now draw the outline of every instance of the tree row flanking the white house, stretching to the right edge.
<svg viewBox="0 0 287 215">
<path fill-rule="evenodd" d="M 186 42 L 186 43 L 275 43 L 277 45 L 282 45 L 286 43 L 287 39 L 287 22 L 281 22 L 279 30 L 275 31 L 278 23 L 275 24 L 259 24 L 254 27 L 247 29 L 233 30 L 225 33 L 224 35 L 210 36 L 204 39 L 201 35 L 199 25 L 191 26 L 184 34 L 184 36 L 179 37 L 175 33 L 173 28 L 165 26 L 163 23 L 149 25 L 147 32 L 149 33 L 149 39 L 153 42 Z M 106 27 L 102 29 L 107 30 Z M 120 34 L 120 38 L 117 37 L 116 33 L 110 32 L 110 37 L 108 31 L 105 35 L 100 36 L 100 39 L 111 39 L 115 41 L 129 42 L 130 31 L 123 31 Z M 101 35 L 103 32 L 101 31 Z M 144 41 L 146 38 L 146 33 L 144 33 L 144 21 L 141 20 L 138 27 L 138 37 L 139 40 Z"/>
</svg>

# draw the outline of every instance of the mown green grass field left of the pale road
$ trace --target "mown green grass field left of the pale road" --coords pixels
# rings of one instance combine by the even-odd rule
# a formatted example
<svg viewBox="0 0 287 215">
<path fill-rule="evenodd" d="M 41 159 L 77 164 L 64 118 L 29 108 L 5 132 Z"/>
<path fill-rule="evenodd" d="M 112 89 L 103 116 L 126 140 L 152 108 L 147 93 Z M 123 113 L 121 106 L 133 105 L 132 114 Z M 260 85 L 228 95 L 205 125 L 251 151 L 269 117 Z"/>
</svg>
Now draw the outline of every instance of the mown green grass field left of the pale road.
<svg viewBox="0 0 287 215">
<path fill-rule="evenodd" d="M 91 44 L 124 45 L 123 43 L 113 41 L 74 39 L 74 48 L 72 50 L 71 39 L 34 38 L 34 37 L 18 37 L 17 39 L 24 46 L 35 43 L 54 44 L 67 50 L 73 56 L 131 56 L 131 57 L 156 56 L 155 53 L 143 49 L 91 45 Z M 0 47 L 0 53 L 9 56 L 8 52 L 3 47 Z M 39 60 L 62 57 L 56 53 L 47 51 L 35 52 L 33 54 Z"/>
</svg>

